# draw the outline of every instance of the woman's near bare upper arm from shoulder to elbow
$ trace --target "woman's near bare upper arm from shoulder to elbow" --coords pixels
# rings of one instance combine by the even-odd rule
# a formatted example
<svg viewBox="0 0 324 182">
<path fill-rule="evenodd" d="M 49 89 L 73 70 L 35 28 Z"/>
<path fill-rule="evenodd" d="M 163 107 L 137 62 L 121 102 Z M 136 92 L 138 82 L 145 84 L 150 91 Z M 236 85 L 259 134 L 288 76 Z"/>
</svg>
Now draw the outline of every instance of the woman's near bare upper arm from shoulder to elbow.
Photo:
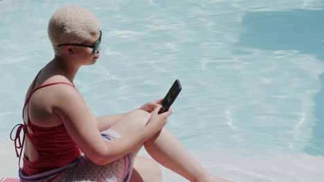
<svg viewBox="0 0 324 182">
<path fill-rule="evenodd" d="M 57 85 L 55 88 L 55 112 L 80 150 L 96 162 L 97 158 L 104 156 L 106 150 L 105 141 L 97 128 L 96 117 L 91 114 L 78 90 L 69 85 Z"/>
</svg>

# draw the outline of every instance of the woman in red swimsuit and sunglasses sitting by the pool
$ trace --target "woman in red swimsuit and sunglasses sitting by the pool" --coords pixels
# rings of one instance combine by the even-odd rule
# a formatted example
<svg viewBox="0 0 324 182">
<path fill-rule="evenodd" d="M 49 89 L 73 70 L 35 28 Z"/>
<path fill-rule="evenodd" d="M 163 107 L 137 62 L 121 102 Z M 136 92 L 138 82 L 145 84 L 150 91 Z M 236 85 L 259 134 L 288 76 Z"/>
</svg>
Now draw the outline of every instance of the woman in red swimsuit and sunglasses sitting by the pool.
<svg viewBox="0 0 324 182">
<path fill-rule="evenodd" d="M 24 146 L 21 181 L 161 181 L 156 161 L 189 181 L 224 181 L 164 128 L 171 110 L 158 114 L 161 99 L 124 114 L 93 115 L 73 84 L 80 66 L 100 55 L 102 32 L 93 13 L 63 6 L 48 23 L 48 37 L 55 57 L 30 85 L 24 124 L 17 125 L 16 148 Z M 154 161 L 136 156 L 142 146 Z M 22 149 L 16 152 L 20 168 Z"/>
</svg>

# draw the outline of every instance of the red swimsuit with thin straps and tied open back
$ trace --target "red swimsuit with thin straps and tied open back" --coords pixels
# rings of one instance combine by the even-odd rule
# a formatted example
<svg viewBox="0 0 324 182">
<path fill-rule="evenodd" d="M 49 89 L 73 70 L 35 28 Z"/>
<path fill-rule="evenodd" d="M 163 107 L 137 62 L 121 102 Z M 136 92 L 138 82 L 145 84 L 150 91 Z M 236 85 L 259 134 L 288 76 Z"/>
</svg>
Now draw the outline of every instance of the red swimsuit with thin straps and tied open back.
<svg viewBox="0 0 324 182">
<path fill-rule="evenodd" d="M 36 79 L 37 77 L 35 78 L 35 80 Z M 39 154 L 39 158 L 36 161 L 28 161 L 26 156 L 24 156 L 23 159 L 24 165 L 22 168 L 22 172 L 26 176 L 39 174 L 41 172 L 46 172 L 48 170 L 53 170 L 55 168 L 60 168 L 68 163 L 71 163 L 71 161 L 77 159 L 80 156 L 80 154 L 82 154 L 78 146 L 74 143 L 74 141 L 71 139 L 69 134 L 66 132 L 63 123 L 53 127 L 37 126 L 30 122 L 29 114 L 28 114 L 28 103 L 30 97 L 33 95 L 34 92 L 36 92 L 36 90 L 50 85 L 56 85 L 56 84 L 71 85 L 71 84 L 65 82 L 55 82 L 46 85 L 39 85 L 39 87 L 33 90 L 35 86 L 35 80 L 31 88 L 32 91 L 30 92 L 28 98 L 26 99 L 23 108 L 23 119 L 24 119 L 24 110 L 25 108 L 27 108 L 28 123 L 26 124 L 24 119 L 24 124 L 16 125 L 15 128 L 18 127 L 16 136 L 15 139 L 12 139 L 15 141 L 16 153 L 17 153 L 17 157 L 19 157 L 19 168 L 20 168 L 21 153 L 24 147 L 25 134 L 26 136 L 28 136 L 30 142 L 33 143 L 34 147 L 36 148 Z M 71 86 L 74 87 L 74 85 Z M 29 127 L 33 131 L 33 134 L 27 131 L 27 127 Z M 22 142 L 20 139 L 21 130 L 24 131 L 24 137 Z M 18 152 L 19 149 L 20 152 Z"/>
</svg>

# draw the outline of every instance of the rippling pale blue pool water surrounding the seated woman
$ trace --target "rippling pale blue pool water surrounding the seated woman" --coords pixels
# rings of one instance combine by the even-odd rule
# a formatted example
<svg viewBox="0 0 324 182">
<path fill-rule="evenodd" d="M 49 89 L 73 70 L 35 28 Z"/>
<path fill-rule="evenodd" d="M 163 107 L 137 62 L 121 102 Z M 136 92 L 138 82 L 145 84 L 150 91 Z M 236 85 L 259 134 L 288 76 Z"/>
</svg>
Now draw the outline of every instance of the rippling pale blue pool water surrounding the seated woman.
<svg viewBox="0 0 324 182">
<path fill-rule="evenodd" d="M 0 141 L 8 156 L 0 176 L 15 176 L 8 135 L 22 122 L 28 85 L 53 58 L 47 23 L 64 3 L 0 1 Z M 159 99 L 179 79 L 167 127 L 210 171 L 233 181 L 323 179 L 323 1 L 70 3 L 101 22 L 100 59 L 75 79 L 96 115 Z"/>
</svg>

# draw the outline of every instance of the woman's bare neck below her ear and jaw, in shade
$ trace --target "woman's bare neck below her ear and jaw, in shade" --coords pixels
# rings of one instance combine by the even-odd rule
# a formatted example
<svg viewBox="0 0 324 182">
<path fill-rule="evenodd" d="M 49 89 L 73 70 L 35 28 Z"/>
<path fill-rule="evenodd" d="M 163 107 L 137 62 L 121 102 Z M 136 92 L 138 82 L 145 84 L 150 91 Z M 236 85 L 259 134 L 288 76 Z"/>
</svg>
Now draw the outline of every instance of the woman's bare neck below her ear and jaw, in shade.
<svg viewBox="0 0 324 182">
<path fill-rule="evenodd" d="M 55 55 L 51 62 L 57 71 L 62 72 L 73 83 L 74 77 L 80 68 L 80 65 L 75 64 L 75 60 L 64 59 Z"/>
</svg>

